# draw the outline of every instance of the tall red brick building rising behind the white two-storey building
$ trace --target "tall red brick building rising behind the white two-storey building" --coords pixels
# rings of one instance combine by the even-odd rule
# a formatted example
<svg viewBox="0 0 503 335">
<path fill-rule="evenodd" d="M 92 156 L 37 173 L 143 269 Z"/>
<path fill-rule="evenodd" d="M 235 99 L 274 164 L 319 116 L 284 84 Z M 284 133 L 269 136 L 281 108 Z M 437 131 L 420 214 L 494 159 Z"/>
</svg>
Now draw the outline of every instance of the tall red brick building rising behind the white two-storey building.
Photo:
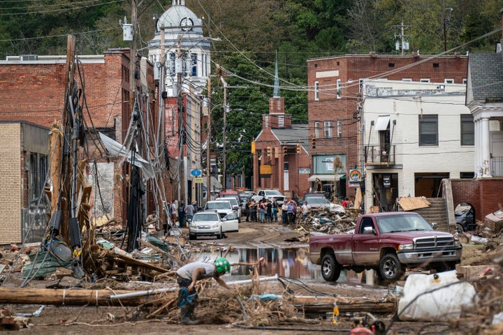
<svg viewBox="0 0 503 335">
<path fill-rule="evenodd" d="M 338 196 L 355 194 L 345 176 L 349 169 L 363 166 L 360 149 L 363 79 L 464 84 L 466 78 L 467 57 L 458 54 L 430 57 L 370 53 L 309 59 L 308 136 L 313 162 L 309 180 L 317 178 L 328 184 L 338 179 L 346 185 L 340 187 Z M 337 164 L 330 166 L 331 162 Z"/>
</svg>

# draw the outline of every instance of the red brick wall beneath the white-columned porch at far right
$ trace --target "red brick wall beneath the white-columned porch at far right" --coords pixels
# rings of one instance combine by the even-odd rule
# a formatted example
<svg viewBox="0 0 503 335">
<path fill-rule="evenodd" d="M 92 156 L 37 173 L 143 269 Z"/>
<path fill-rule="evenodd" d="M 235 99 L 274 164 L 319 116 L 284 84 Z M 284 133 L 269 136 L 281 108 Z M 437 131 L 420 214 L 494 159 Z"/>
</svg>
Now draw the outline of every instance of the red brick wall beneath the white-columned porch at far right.
<svg viewBox="0 0 503 335">
<path fill-rule="evenodd" d="M 475 209 L 475 218 L 483 221 L 486 215 L 503 205 L 503 178 L 451 179 L 454 206 L 467 202 Z"/>
</svg>

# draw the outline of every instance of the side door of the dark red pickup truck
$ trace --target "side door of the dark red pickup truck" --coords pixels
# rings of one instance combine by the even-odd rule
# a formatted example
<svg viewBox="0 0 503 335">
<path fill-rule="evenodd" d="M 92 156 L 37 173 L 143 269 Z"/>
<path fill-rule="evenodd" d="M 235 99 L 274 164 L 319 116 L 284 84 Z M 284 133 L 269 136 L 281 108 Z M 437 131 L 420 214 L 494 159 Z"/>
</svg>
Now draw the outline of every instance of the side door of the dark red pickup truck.
<svg viewBox="0 0 503 335">
<path fill-rule="evenodd" d="M 379 263 L 379 236 L 374 233 L 364 234 L 365 227 L 372 227 L 377 232 L 372 218 L 363 217 L 360 221 L 358 231 L 355 231 L 351 239 L 353 250 L 353 261 L 356 265 L 373 265 Z"/>
</svg>

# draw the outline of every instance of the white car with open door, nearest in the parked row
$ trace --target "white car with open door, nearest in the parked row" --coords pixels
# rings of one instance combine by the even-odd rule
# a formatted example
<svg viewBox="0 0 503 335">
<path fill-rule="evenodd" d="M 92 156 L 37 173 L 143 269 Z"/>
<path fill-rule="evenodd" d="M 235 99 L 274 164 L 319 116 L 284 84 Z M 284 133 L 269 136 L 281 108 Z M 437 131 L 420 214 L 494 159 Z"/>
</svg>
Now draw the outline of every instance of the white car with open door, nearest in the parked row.
<svg viewBox="0 0 503 335">
<path fill-rule="evenodd" d="M 198 236 L 216 236 L 221 239 L 226 232 L 238 231 L 238 214 L 234 211 L 223 218 L 220 218 L 217 211 L 198 211 L 189 225 L 189 239 L 197 239 Z"/>
</svg>

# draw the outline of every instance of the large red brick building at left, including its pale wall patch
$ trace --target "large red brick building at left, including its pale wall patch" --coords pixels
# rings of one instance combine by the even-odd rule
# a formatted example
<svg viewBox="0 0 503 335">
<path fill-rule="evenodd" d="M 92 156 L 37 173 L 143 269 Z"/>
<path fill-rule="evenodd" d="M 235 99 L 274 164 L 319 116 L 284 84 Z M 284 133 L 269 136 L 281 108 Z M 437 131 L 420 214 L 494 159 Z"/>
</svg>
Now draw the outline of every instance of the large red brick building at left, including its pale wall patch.
<svg viewBox="0 0 503 335">
<path fill-rule="evenodd" d="M 5 121 L 16 121 L 20 125 L 30 122 L 46 128 L 58 124 L 65 105 L 65 64 L 66 56 L 22 55 L 7 57 L 5 61 L 0 61 L 0 89 L 3 92 L 0 100 L 2 110 L 0 121 L 4 121 L 3 126 L 11 126 Z M 87 131 L 85 151 L 88 166 L 85 174 L 93 190 L 97 190 L 97 184 L 102 188 L 101 194 L 95 193 L 96 196 L 92 198 L 92 216 L 108 214 L 124 223 L 127 195 L 125 192 L 127 181 L 124 176 L 127 164 L 117 164 L 121 159 L 108 161 L 105 149 L 98 141 L 98 132 L 122 143 L 130 126 L 130 101 L 133 100 L 129 94 L 131 89 L 129 49 L 108 50 L 103 55 L 96 56 L 79 56 L 75 64 L 77 65 L 75 81 L 82 90 L 80 103 L 84 110 Z M 136 89 L 141 92 L 141 101 L 138 104 L 143 111 L 143 121 L 156 129 L 159 122 L 155 112 L 158 89 L 154 82 L 153 66 L 146 59 L 138 59 L 136 72 L 138 73 L 135 75 Z M 10 145 L 19 145 L 16 142 L 19 140 Z M 151 143 L 155 141 L 152 140 Z M 6 163 L 6 157 L 0 156 L 0 164 Z M 11 165 L 13 162 L 8 161 L 8 164 Z M 45 175 L 47 172 L 48 170 L 45 170 Z M 104 179 L 96 180 L 97 175 Z M 21 180 L 17 182 L 22 183 Z M 25 192 L 32 187 L 29 179 L 27 183 L 23 186 Z M 147 189 L 149 187 L 147 181 Z M 27 196 L 23 195 L 21 199 L 24 198 Z M 150 192 L 147 192 L 147 201 L 153 206 L 154 196 Z M 27 205 L 27 201 L 23 200 L 22 206 Z M 19 222 L 11 223 L 20 227 Z M 17 237 L 10 242 L 19 242 L 20 239 Z"/>
</svg>

